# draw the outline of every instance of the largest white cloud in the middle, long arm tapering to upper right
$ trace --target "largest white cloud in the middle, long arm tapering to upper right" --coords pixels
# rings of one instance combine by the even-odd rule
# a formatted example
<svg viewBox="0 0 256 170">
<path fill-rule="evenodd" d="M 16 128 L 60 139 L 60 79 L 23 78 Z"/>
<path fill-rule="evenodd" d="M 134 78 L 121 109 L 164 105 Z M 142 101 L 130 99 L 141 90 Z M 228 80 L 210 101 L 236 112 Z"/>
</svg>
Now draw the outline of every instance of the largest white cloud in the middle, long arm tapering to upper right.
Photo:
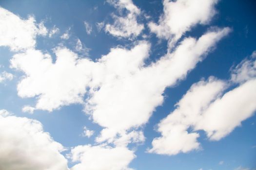
<svg viewBox="0 0 256 170">
<path fill-rule="evenodd" d="M 14 55 L 11 66 L 26 74 L 18 85 L 18 94 L 38 96 L 36 109 L 52 111 L 82 103 L 94 122 L 104 127 L 98 142 L 114 142 L 122 136 L 127 136 L 124 138 L 128 141 L 139 141 L 129 137 L 131 128 L 145 124 L 155 107 L 163 102 L 164 89 L 184 79 L 228 33 L 229 29 L 224 28 L 209 31 L 199 39 L 186 38 L 173 53 L 149 66 L 144 66 L 150 48 L 145 41 L 130 50 L 113 48 L 97 62 L 57 48 L 53 63 L 49 54 L 28 50 Z"/>
</svg>

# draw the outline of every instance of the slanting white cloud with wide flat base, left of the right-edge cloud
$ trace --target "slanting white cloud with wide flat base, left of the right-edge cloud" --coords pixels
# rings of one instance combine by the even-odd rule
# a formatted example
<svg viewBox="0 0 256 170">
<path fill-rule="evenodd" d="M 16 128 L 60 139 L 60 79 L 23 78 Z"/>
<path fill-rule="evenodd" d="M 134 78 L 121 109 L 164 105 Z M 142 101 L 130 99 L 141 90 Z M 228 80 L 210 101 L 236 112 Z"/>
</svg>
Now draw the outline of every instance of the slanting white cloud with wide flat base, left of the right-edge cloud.
<svg viewBox="0 0 256 170">
<path fill-rule="evenodd" d="M 187 129 L 197 123 L 200 112 L 225 88 L 225 83 L 211 77 L 191 86 L 189 91 L 176 104 L 177 109 L 161 120 L 158 131 L 162 136 L 152 142 L 150 153 L 174 155 L 199 149 L 199 134 L 188 133 Z"/>
</svg>

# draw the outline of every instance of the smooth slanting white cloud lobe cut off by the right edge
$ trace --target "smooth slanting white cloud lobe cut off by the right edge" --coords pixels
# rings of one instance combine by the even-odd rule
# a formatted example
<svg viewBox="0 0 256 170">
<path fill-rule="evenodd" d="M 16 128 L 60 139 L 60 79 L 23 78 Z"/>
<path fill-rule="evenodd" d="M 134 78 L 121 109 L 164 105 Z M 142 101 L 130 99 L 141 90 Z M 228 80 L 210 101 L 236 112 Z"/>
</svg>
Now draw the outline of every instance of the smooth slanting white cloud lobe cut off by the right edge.
<svg viewBox="0 0 256 170">
<path fill-rule="evenodd" d="M 246 107 L 245 107 L 246 106 Z M 219 140 L 231 133 L 241 121 L 256 111 L 256 79 L 249 80 L 214 101 L 195 126 L 204 130 L 211 140 Z"/>
</svg>

